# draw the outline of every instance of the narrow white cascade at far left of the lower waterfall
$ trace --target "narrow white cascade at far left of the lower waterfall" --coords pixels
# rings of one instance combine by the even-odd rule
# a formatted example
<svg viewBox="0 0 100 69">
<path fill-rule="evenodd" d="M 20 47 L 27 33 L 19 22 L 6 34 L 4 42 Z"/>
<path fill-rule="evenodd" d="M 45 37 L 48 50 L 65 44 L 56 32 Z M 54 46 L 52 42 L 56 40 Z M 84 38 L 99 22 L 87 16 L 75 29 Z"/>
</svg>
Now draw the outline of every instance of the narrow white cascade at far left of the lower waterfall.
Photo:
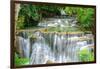
<svg viewBox="0 0 100 69">
<path fill-rule="evenodd" d="M 21 36 L 17 36 L 16 42 L 20 57 L 29 58 L 30 40 L 28 38 L 25 39 Z"/>
</svg>

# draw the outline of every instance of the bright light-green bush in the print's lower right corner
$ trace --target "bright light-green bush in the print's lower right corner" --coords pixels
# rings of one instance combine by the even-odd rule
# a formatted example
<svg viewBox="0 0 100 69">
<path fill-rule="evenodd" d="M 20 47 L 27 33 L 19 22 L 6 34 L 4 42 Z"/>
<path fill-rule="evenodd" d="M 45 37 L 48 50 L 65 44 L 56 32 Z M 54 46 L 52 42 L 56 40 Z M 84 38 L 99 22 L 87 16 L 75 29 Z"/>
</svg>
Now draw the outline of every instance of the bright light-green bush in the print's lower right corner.
<svg viewBox="0 0 100 69">
<path fill-rule="evenodd" d="M 81 61 L 94 61 L 94 54 L 93 52 L 89 52 L 88 49 L 83 49 L 79 52 L 79 58 Z"/>
</svg>

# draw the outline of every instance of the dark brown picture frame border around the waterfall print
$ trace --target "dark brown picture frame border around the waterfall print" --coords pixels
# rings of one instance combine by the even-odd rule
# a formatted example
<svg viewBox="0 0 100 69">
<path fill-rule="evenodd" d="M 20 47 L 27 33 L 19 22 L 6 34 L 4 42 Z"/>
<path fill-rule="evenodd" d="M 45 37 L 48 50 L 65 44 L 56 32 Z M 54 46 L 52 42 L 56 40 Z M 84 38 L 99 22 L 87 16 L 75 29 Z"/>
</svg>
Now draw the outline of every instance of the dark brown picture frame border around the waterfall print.
<svg viewBox="0 0 100 69">
<path fill-rule="evenodd" d="M 15 4 L 36 4 L 36 5 L 58 5 L 58 6 L 70 6 L 70 7 L 85 7 L 85 8 L 94 8 L 95 9 L 95 38 L 94 38 L 94 61 L 89 61 L 89 62 L 73 62 L 73 63 L 55 63 L 55 64 L 39 64 L 39 65 L 22 65 L 22 66 L 16 66 L 14 63 L 14 45 L 15 45 Z M 60 66 L 60 65 L 77 65 L 77 64 L 91 64 L 91 63 L 96 63 L 96 6 L 95 5 L 81 5 L 81 4 L 62 4 L 62 3 L 47 3 L 47 2 L 34 2 L 34 1 L 11 1 L 10 2 L 11 5 L 11 42 L 10 42 L 10 46 L 11 46 L 11 63 L 10 63 L 10 67 L 13 68 L 28 68 L 28 67 L 44 67 L 44 66 Z"/>
</svg>

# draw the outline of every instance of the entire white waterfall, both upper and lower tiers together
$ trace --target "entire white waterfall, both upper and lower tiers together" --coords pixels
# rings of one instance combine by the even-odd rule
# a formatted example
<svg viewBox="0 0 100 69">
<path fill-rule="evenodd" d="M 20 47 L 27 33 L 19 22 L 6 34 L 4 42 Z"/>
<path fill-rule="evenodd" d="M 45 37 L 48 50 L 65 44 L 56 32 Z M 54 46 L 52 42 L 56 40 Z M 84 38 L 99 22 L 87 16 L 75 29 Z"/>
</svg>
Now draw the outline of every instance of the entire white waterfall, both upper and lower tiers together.
<svg viewBox="0 0 100 69">
<path fill-rule="evenodd" d="M 63 27 L 66 27 L 68 21 L 71 22 L 73 19 L 51 19 L 51 22 L 53 21 L 56 23 L 50 24 L 48 21 L 49 23 L 46 23 L 46 25 L 41 23 L 39 26 L 45 26 L 47 28 L 51 25 L 54 25 L 54 27 L 59 25 L 61 27 L 60 32 L 32 32 L 31 34 L 36 37 L 33 42 L 30 37 L 24 38 L 19 36 L 18 41 L 21 56 L 24 55 L 24 57 L 29 58 L 29 64 L 46 64 L 48 61 L 50 63 L 80 62 L 78 51 L 84 47 L 94 45 L 93 40 L 79 40 L 81 37 L 90 38 L 89 36 L 91 34 L 61 34 Z"/>
</svg>

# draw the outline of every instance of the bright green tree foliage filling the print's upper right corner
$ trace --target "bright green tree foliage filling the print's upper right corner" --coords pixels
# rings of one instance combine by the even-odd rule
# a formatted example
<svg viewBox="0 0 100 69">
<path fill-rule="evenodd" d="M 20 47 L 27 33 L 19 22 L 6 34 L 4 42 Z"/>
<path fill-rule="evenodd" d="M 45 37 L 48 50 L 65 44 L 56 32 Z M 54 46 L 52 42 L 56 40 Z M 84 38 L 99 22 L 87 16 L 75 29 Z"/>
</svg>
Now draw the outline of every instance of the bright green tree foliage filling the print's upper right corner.
<svg viewBox="0 0 100 69">
<path fill-rule="evenodd" d="M 78 21 L 78 27 L 83 31 L 94 31 L 94 9 L 82 7 L 66 7 L 66 14 L 75 15 Z"/>
</svg>

